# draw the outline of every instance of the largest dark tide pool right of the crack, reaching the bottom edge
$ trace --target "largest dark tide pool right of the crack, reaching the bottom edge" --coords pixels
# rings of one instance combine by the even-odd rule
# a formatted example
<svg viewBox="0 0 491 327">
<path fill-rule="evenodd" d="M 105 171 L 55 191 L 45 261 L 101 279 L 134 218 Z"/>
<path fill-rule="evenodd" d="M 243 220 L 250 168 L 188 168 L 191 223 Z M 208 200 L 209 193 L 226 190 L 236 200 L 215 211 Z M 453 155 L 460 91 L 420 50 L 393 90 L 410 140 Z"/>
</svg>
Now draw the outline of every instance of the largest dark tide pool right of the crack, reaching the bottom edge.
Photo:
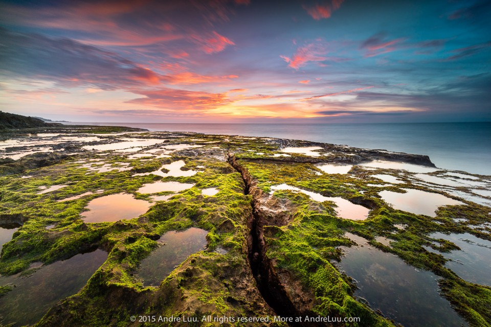
<svg viewBox="0 0 491 327">
<path fill-rule="evenodd" d="M 363 247 L 341 247 L 347 254 L 337 264 L 353 277 L 362 297 L 374 310 L 404 326 L 460 326 L 465 321 L 438 293 L 438 276 L 419 271 L 391 253 L 377 250 L 367 240 L 346 233 Z"/>
</svg>

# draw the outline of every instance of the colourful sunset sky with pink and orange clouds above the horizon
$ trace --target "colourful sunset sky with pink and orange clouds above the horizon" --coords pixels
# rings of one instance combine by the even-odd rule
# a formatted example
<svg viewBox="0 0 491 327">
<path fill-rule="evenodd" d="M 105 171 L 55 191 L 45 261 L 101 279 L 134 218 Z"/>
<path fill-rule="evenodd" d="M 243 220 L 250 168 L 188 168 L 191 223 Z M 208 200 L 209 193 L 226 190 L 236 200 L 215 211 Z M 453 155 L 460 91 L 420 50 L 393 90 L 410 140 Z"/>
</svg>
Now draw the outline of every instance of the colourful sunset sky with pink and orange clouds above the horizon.
<svg viewBox="0 0 491 327">
<path fill-rule="evenodd" d="M 78 122 L 491 121 L 491 1 L 0 0 L 0 110 Z"/>
</svg>

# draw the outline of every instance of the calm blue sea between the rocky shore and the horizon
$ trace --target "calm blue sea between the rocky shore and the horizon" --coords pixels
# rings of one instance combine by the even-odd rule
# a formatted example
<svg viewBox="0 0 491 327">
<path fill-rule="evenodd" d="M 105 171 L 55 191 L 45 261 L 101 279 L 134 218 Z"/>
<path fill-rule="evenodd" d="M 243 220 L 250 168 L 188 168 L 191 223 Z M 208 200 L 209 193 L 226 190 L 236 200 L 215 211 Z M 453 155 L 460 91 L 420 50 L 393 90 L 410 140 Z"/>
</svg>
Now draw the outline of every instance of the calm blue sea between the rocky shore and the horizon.
<svg viewBox="0 0 491 327">
<path fill-rule="evenodd" d="M 69 123 L 267 136 L 426 154 L 444 169 L 491 175 L 491 123 L 417 124 L 158 124 Z"/>
</svg>

